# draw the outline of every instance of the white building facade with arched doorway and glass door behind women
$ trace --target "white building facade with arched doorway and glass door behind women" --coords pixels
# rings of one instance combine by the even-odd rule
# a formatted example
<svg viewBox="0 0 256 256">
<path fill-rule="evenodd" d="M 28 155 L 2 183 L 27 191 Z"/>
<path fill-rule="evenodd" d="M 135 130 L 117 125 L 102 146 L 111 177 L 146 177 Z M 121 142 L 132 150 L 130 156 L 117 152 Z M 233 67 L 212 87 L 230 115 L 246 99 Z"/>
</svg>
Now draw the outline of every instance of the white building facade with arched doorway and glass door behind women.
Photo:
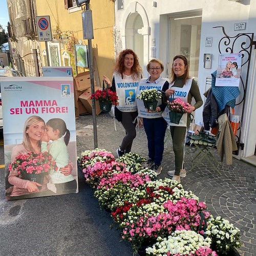
<svg viewBox="0 0 256 256">
<path fill-rule="evenodd" d="M 183 54 L 189 59 L 190 76 L 198 78 L 202 95 L 210 88 L 219 54 L 241 53 L 241 93 L 234 108 L 242 119 L 237 154 L 239 158 L 254 155 L 256 0 L 117 0 L 115 19 L 122 48 L 135 50 L 144 77 L 148 76 L 146 64 L 151 58 L 163 61 L 162 76 L 169 77 L 173 57 Z M 196 122 L 202 122 L 202 111 L 203 107 L 196 111 Z"/>
</svg>

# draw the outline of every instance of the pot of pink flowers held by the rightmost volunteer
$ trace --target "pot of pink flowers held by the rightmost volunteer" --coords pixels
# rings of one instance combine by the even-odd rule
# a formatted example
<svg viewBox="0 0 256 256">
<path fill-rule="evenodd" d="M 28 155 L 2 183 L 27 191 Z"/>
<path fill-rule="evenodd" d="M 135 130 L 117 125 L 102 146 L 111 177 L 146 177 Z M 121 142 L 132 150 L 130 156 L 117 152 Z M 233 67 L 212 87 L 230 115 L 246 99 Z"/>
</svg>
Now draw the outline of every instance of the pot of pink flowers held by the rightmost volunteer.
<svg viewBox="0 0 256 256">
<path fill-rule="evenodd" d="M 187 112 L 189 103 L 185 103 L 180 98 L 172 99 L 167 103 L 169 109 L 169 117 L 172 123 L 179 124 L 181 117 Z"/>
</svg>

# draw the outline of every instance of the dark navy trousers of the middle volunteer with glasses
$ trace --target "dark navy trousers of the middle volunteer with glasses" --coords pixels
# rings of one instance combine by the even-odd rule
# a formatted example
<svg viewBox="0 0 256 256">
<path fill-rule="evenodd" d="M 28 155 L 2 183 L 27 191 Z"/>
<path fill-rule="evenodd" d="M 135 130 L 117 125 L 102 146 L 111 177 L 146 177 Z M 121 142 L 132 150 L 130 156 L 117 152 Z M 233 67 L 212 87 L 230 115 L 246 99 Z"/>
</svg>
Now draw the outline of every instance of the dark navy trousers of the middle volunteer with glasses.
<svg viewBox="0 0 256 256">
<path fill-rule="evenodd" d="M 148 157 L 156 165 L 163 159 L 164 136 L 167 123 L 162 117 L 143 118 L 143 125 L 147 136 Z"/>
</svg>

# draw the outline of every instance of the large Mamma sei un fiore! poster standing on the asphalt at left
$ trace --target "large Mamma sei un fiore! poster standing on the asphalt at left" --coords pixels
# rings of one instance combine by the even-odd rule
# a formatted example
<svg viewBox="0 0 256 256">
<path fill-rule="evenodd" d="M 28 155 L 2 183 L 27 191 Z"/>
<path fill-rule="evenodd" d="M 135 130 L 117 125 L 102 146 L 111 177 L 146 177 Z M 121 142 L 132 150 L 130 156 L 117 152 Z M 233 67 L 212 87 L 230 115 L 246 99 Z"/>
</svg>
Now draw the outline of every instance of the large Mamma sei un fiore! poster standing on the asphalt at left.
<svg viewBox="0 0 256 256">
<path fill-rule="evenodd" d="M 78 193 L 73 77 L 0 81 L 6 199 Z"/>
</svg>

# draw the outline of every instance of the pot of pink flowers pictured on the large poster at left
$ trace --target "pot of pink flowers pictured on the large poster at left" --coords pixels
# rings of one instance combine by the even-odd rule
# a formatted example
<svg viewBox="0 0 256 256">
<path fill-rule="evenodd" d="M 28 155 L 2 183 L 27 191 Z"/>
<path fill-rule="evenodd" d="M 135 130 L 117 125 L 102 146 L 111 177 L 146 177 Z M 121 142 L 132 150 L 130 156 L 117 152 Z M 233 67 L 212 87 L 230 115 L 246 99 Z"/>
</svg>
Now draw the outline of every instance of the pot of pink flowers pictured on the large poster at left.
<svg viewBox="0 0 256 256">
<path fill-rule="evenodd" d="M 20 178 L 40 184 L 45 184 L 45 175 L 56 168 L 56 162 L 52 160 L 52 156 L 48 152 L 20 154 L 9 165 L 9 170 L 17 170 Z"/>
</svg>

